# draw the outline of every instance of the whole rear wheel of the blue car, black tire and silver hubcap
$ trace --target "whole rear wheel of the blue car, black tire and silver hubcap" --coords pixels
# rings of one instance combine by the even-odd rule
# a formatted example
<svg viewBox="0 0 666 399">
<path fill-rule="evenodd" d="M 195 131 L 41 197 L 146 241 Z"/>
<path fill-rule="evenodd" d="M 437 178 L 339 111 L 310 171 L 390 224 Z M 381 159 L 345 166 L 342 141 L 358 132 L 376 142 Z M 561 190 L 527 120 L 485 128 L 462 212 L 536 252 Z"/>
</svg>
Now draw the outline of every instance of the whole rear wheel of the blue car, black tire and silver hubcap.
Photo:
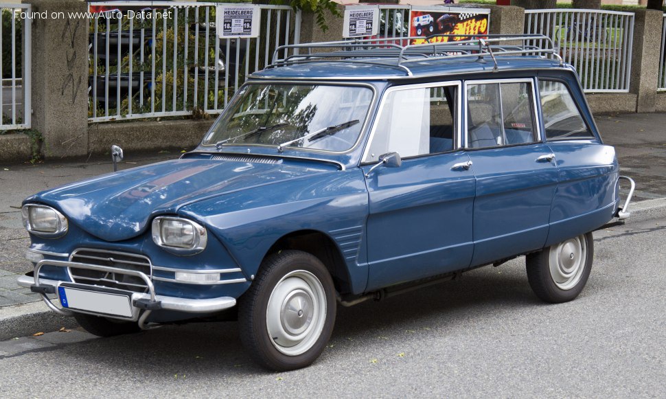
<svg viewBox="0 0 666 399">
<path fill-rule="evenodd" d="M 553 304 L 575 299 L 585 287 L 594 258 L 592 233 L 527 255 L 527 281 L 537 297 Z"/>
</svg>

